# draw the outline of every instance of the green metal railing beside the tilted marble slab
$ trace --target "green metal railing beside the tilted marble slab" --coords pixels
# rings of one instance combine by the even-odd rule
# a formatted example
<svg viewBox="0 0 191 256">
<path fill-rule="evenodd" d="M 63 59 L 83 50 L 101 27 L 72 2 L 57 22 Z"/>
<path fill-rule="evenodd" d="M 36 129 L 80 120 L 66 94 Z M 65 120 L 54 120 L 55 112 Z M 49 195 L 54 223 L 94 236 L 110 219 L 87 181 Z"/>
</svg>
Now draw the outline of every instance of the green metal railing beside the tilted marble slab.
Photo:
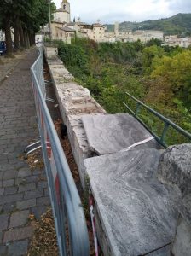
<svg viewBox="0 0 191 256">
<path fill-rule="evenodd" d="M 184 137 L 187 137 L 191 141 L 191 134 L 188 131 L 183 130 L 180 126 L 173 123 L 170 119 L 165 118 L 162 114 L 158 113 L 157 111 L 153 110 L 153 108 L 149 108 L 147 105 L 145 105 L 143 102 L 137 100 L 134 96 L 131 96 L 128 92 L 126 92 L 127 96 L 130 96 L 132 100 L 136 102 L 136 112 L 134 112 L 125 102 L 124 106 L 130 111 L 130 113 L 155 137 L 158 143 L 160 143 L 164 148 L 167 148 L 168 145 L 165 143 L 165 136 L 168 128 L 171 126 L 173 129 L 175 129 L 177 132 L 181 133 Z M 150 113 L 153 113 L 155 116 L 157 116 L 160 120 L 164 122 L 164 128 L 162 131 L 161 136 L 159 137 L 156 135 L 153 131 L 151 131 L 148 128 L 148 125 L 146 125 L 142 119 L 138 117 L 138 114 L 140 113 L 141 108 L 146 108 Z"/>
</svg>

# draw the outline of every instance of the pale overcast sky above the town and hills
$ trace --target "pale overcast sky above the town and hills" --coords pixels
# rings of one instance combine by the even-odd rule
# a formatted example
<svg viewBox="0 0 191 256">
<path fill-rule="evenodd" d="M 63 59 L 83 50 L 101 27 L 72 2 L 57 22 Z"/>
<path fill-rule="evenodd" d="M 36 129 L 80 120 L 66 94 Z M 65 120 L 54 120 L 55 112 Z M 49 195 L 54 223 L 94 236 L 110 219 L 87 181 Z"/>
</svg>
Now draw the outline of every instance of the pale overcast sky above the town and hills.
<svg viewBox="0 0 191 256">
<path fill-rule="evenodd" d="M 61 0 L 54 0 L 57 8 Z M 142 21 L 166 18 L 177 13 L 191 13 L 191 0 L 69 0 L 71 19 L 101 23 Z"/>
</svg>

